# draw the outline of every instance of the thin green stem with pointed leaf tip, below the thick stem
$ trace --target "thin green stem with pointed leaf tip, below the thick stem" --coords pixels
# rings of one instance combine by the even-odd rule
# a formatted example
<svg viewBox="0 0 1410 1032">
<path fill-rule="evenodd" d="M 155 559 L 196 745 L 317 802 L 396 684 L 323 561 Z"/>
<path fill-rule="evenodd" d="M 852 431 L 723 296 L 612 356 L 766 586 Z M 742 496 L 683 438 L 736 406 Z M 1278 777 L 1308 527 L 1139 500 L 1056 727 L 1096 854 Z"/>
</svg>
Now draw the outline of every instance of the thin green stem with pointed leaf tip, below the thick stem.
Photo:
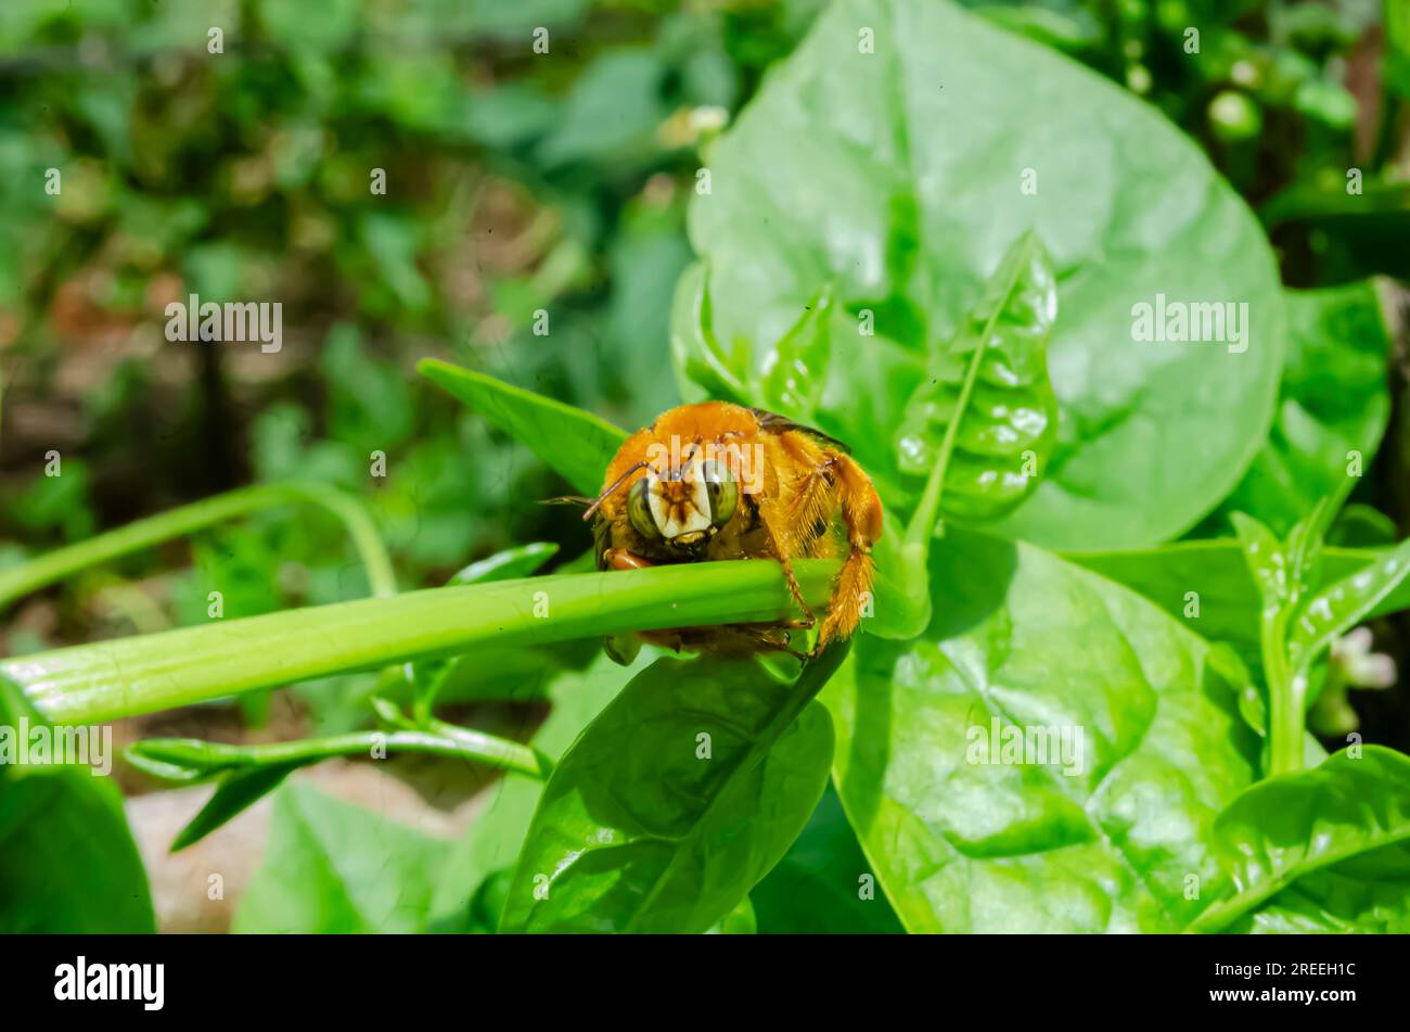
<svg viewBox="0 0 1410 1032">
<path fill-rule="evenodd" d="M 255 766 L 310 764 L 334 756 L 372 756 L 385 747 L 388 753 L 423 753 L 474 760 L 499 770 L 525 774 L 540 781 L 548 777 L 551 766 L 532 746 L 484 735 L 468 727 L 443 725 L 434 732 L 354 732 L 321 739 L 299 739 L 258 746 L 230 746 L 221 742 L 192 739 L 147 739 L 134 743 L 130 753 L 141 761 L 171 767 L 197 768 L 200 777 L 210 777 Z M 154 767 L 154 770 L 157 770 Z"/>
</svg>

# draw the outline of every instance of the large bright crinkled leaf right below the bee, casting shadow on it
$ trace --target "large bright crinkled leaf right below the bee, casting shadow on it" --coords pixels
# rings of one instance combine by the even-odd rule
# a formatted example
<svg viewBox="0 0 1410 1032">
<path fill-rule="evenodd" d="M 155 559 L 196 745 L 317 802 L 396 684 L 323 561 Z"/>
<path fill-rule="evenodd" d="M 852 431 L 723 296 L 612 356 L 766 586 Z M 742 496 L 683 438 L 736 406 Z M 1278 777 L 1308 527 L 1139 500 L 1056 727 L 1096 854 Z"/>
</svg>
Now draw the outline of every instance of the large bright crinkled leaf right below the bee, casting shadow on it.
<svg viewBox="0 0 1410 1032">
<path fill-rule="evenodd" d="M 929 571 L 945 605 L 926 633 L 863 636 L 822 695 L 842 802 L 901 921 L 1184 928 L 1230 888 L 1211 828 L 1258 753 L 1210 647 L 1031 546 L 955 530 Z M 990 754 L 995 722 L 1035 751 Z"/>
</svg>

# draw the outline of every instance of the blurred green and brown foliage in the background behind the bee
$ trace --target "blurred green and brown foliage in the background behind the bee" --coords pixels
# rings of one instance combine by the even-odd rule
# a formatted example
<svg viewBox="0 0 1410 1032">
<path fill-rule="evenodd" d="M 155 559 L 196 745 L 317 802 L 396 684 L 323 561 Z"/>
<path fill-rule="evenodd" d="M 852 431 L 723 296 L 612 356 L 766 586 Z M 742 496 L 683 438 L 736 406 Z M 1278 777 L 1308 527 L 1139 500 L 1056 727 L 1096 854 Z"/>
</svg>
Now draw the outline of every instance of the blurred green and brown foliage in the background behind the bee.
<svg viewBox="0 0 1410 1032">
<path fill-rule="evenodd" d="M 1180 124 L 1289 285 L 1410 276 L 1404 0 L 966 6 Z M 446 357 L 623 426 L 675 403 L 667 319 L 702 148 L 821 7 L 6 0 L 0 568 L 288 478 L 361 495 L 403 589 L 515 543 L 580 554 L 575 513 L 525 503 L 561 482 L 412 367 Z M 281 302 L 282 351 L 168 343 L 164 307 L 189 293 Z M 1402 534 L 1403 413 L 1399 383 L 1378 475 Z M 233 618 L 367 585 L 331 519 L 268 512 L 21 603 L 0 651 L 193 623 L 216 589 Z M 350 691 L 306 689 L 314 723 L 355 720 Z"/>
</svg>

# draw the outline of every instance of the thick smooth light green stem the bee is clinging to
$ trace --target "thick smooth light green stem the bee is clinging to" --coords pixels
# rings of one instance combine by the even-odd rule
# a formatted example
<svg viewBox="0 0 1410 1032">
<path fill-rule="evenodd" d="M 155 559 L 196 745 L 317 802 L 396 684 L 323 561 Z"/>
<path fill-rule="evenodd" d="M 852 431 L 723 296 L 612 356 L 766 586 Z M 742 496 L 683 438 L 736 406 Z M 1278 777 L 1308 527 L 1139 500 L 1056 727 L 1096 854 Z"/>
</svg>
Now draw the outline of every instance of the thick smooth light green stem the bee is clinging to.
<svg viewBox="0 0 1410 1032">
<path fill-rule="evenodd" d="M 795 564 L 822 608 L 838 564 Z M 798 615 L 777 563 L 692 563 L 413 591 L 216 620 L 0 660 L 54 723 L 96 723 L 257 688 L 482 647 L 629 630 L 774 623 Z"/>
</svg>

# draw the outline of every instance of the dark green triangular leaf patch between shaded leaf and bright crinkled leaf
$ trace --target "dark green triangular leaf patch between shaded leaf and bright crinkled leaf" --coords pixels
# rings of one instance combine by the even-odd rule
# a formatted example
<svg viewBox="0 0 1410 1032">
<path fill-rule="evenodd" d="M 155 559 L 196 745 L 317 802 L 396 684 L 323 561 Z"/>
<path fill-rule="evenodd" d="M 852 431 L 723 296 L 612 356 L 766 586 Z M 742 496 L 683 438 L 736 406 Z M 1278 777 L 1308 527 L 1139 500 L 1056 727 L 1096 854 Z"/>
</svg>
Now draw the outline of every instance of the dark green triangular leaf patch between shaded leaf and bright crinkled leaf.
<svg viewBox="0 0 1410 1032">
<path fill-rule="evenodd" d="M 749 894 L 763 935 L 904 932 L 829 784 L 784 859 Z"/>
</svg>

